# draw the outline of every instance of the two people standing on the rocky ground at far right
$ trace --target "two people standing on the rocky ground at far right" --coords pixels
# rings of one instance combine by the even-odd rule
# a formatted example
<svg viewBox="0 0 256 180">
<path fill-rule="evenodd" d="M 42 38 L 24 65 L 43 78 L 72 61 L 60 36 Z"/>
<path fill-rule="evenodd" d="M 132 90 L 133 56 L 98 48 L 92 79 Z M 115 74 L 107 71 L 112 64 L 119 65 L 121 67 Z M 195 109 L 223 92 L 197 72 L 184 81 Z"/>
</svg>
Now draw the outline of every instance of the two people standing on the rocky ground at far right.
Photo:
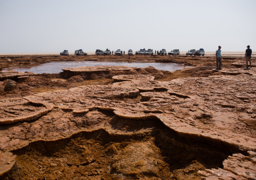
<svg viewBox="0 0 256 180">
<path fill-rule="evenodd" d="M 221 70 L 221 64 L 222 64 L 222 56 L 221 56 L 221 46 L 219 46 L 218 50 L 216 51 L 216 70 Z M 247 46 L 247 49 L 245 50 L 245 55 L 244 55 L 244 58 L 245 58 L 245 61 L 246 61 L 246 68 L 248 69 L 249 66 L 248 66 L 248 62 L 250 63 L 250 68 L 251 68 L 251 54 L 252 54 L 252 51 L 250 49 L 250 46 L 248 45 Z"/>
</svg>

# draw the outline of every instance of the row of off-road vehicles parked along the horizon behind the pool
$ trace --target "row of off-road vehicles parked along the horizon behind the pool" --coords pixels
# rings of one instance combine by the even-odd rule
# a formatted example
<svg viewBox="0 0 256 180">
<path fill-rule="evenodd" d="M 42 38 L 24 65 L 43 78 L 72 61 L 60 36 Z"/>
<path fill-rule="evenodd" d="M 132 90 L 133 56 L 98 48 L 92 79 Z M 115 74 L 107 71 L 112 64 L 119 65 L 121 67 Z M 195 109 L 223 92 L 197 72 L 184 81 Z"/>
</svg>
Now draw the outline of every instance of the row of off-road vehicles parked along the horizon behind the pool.
<svg viewBox="0 0 256 180">
<path fill-rule="evenodd" d="M 122 55 L 124 52 L 121 51 L 120 49 L 115 51 L 115 55 Z M 106 49 L 106 51 L 102 51 L 97 49 L 95 52 L 96 55 L 111 55 L 111 51 L 109 49 Z M 135 53 L 136 55 L 154 55 L 154 51 L 152 49 L 148 49 L 146 50 L 144 49 L 140 49 L 140 51 L 136 51 Z M 168 53 L 168 55 L 179 55 L 179 49 L 174 49 L 171 52 Z M 69 51 L 68 50 L 64 50 L 62 52 L 60 52 L 60 55 L 69 55 Z M 75 51 L 75 55 L 79 56 L 79 55 L 87 55 L 87 53 L 83 52 L 82 49 L 80 50 L 76 50 Z M 133 55 L 133 50 L 129 50 L 128 51 L 128 55 Z M 162 49 L 160 51 L 157 51 L 157 55 L 167 55 L 167 52 L 165 49 Z M 186 53 L 186 56 L 205 56 L 205 50 L 203 48 L 200 48 L 199 50 L 196 49 L 191 49 Z"/>
</svg>

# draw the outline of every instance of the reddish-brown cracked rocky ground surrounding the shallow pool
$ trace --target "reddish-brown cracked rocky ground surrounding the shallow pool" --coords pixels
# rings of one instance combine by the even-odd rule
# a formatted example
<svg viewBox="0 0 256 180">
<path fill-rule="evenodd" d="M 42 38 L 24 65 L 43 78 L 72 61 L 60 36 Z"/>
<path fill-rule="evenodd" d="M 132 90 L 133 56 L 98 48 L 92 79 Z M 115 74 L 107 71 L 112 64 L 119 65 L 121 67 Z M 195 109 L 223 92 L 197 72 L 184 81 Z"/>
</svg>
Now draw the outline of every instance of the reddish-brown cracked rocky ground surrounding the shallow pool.
<svg viewBox="0 0 256 180">
<path fill-rule="evenodd" d="M 191 68 L 0 72 L 1 178 L 256 179 L 254 63 L 224 56 L 216 71 L 210 56 L 1 56 L 0 65 L 67 60 Z"/>
</svg>

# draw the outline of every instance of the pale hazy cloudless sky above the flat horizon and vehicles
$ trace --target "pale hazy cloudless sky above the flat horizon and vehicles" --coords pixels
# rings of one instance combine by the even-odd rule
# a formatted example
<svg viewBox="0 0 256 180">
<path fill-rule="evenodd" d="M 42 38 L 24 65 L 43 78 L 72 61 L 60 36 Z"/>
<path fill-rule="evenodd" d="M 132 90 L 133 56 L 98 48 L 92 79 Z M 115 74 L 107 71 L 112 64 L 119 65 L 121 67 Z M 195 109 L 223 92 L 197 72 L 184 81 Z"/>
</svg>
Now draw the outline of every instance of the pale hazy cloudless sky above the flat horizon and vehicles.
<svg viewBox="0 0 256 180">
<path fill-rule="evenodd" d="M 256 0 L 0 0 L 0 53 L 256 51 Z"/>
</svg>

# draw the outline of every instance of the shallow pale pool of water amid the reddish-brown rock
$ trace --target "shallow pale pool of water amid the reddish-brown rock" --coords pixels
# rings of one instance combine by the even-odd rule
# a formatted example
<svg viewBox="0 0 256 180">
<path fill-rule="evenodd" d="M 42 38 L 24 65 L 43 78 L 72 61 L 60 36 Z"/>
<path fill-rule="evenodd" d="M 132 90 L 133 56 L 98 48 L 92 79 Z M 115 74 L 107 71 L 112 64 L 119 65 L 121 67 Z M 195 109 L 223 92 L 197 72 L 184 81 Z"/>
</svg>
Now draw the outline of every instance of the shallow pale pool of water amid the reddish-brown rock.
<svg viewBox="0 0 256 180">
<path fill-rule="evenodd" d="M 129 66 L 129 67 L 140 67 L 146 68 L 149 66 L 155 67 L 159 70 L 164 71 L 176 71 L 185 68 L 184 65 L 174 63 L 155 63 L 155 62 L 103 62 L 103 61 L 62 61 L 62 62 L 51 62 L 41 64 L 34 67 L 22 67 L 22 68 L 10 68 L 4 69 L 3 71 L 18 71 L 25 72 L 29 71 L 32 73 L 60 73 L 63 68 L 75 68 L 80 66 Z"/>
</svg>

